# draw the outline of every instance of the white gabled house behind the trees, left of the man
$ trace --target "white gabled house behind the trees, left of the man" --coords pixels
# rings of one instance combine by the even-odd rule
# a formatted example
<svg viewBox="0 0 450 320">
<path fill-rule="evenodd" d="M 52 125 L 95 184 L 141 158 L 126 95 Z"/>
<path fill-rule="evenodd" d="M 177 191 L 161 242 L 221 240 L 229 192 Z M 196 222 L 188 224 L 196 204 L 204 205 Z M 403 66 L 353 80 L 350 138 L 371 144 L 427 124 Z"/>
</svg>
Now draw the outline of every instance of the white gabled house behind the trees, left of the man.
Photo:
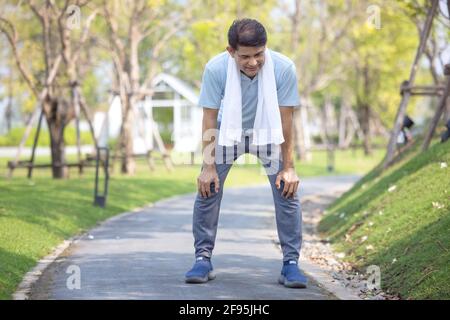
<svg viewBox="0 0 450 320">
<path fill-rule="evenodd" d="M 157 75 L 152 86 L 153 97 L 147 96 L 134 110 L 134 153 L 144 154 L 148 150 L 153 150 L 155 146 L 154 108 L 173 108 L 174 151 L 200 151 L 202 110 L 197 105 L 196 92 L 180 79 L 165 73 Z M 120 98 L 113 96 L 108 112 L 97 112 L 94 115 L 94 129 L 99 146 L 105 146 L 109 139 L 119 135 L 121 120 Z"/>
</svg>

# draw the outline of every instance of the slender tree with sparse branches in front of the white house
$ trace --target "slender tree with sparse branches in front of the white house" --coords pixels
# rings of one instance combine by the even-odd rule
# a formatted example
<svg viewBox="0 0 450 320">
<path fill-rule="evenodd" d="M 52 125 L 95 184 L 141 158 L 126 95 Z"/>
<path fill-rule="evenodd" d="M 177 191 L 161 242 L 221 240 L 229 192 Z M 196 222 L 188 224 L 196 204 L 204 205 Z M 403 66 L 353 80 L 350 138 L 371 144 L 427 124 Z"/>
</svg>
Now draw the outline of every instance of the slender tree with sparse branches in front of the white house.
<svg viewBox="0 0 450 320">
<path fill-rule="evenodd" d="M 114 83 L 122 103 L 118 144 L 122 153 L 121 171 L 131 175 L 135 172 L 133 107 L 146 95 L 152 95 L 151 81 L 160 70 L 162 51 L 186 27 L 192 7 L 181 7 L 170 0 L 104 0 L 102 9 L 109 41 L 97 40 L 111 53 Z"/>
</svg>

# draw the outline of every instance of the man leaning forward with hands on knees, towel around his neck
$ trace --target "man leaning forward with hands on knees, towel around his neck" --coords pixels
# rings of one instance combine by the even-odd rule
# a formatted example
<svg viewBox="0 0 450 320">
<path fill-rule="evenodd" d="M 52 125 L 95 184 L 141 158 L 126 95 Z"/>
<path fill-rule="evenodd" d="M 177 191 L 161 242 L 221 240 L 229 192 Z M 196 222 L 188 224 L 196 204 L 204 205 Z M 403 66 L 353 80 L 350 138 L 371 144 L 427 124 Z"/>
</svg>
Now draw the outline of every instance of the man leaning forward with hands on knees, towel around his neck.
<svg viewBox="0 0 450 320">
<path fill-rule="evenodd" d="M 272 187 L 283 251 L 279 283 L 305 288 L 307 279 L 298 268 L 302 241 L 299 178 L 292 159 L 292 114 L 300 104 L 295 65 L 266 48 L 266 31 L 256 20 L 234 21 L 228 42 L 227 51 L 212 58 L 203 74 L 199 105 L 203 107 L 204 161 L 193 212 L 196 262 L 185 280 L 204 283 L 215 278 L 211 256 L 223 185 L 233 161 L 251 152 L 263 162 Z M 271 109 L 273 101 L 276 105 Z M 219 139 L 209 134 L 217 128 Z M 261 132 L 269 132 L 270 136 Z M 252 140 L 256 152 L 255 145 L 250 145 Z"/>
</svg>

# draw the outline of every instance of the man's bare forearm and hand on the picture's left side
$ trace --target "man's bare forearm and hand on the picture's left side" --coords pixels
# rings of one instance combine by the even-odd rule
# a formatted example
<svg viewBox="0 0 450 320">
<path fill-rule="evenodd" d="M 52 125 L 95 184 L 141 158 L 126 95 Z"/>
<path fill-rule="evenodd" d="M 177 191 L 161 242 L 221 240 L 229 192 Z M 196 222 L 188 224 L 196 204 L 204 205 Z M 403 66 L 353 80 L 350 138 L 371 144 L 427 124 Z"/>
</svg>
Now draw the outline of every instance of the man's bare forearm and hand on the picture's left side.
<svg viewBox="0 0 450 320">
<path fill-rule="evenodd" d="M 219 176 L 215 164 L 215 139 L 217 130 L 217 114 L 219 109 L 203 108 L 202 122 L 202 172 L 197 178 L 198 192 L 202 197 L 211 195 L 211 183 L 215 184 L 215 191 L 219 191 Z"/>
</svg>

